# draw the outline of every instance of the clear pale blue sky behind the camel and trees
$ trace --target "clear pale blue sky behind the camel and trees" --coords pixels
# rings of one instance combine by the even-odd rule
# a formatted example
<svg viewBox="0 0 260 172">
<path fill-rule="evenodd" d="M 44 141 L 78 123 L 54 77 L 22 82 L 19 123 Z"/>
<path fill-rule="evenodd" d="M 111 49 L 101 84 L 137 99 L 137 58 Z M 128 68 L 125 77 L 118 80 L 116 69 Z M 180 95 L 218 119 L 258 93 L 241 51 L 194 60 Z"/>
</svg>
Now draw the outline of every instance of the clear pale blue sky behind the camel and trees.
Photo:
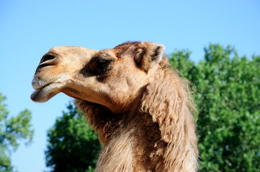
<svg viewBox="0 0 260 172">
<path fill-rule="evenodd" d="M 32 111 L 35 136 L 12 154 L 19 172 L 46 170 L 46 131 L 71 98 L 30 100 L 37 64 L 51 47 L 112 48 L 127 40 L 162 43 L 166 53 L 189 49 L 195 62 L 209 43 L 260 55 L 259 0 L 0 0 L 0 92 L 11 115 Z M 87 155 L 86 155 L 87 156 Z"/>
</svg>

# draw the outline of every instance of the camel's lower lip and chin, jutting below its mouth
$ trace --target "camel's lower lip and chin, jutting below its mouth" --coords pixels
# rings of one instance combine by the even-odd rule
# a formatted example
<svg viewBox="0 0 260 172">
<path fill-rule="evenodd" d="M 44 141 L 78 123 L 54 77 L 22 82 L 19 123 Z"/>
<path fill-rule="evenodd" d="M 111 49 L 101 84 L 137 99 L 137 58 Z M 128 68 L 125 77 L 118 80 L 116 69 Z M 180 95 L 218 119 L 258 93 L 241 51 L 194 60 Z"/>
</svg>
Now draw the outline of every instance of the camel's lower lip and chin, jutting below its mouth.
<svg viewBox="0 0 260 172">
<path fill-rule="evenodd" d="M 47 102 L 49 99 L 60 92 L 59 88 L 60 86 L 57 86 L 57 84 L 50 84 L 48 86 L 38 88 L 32 93 L 31 99 L 34 102 L 39 103 Z"/>
</svg>

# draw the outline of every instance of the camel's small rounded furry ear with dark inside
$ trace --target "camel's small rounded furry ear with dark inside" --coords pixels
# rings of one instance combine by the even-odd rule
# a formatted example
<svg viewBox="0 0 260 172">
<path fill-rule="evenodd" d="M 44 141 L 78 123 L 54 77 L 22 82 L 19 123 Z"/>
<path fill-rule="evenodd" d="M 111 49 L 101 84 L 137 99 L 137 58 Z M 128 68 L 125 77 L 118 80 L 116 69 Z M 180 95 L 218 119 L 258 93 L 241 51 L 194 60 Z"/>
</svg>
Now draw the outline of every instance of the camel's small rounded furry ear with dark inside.
<svg viewBox="0 0 260 172">
<path fill-rule="evenodd" d="M 144 71 L 149 71 L 154 64 L 162 60 L 165 47 L 158 43 L 145 44 L 143 49 L 137 51 L 135 61 Z"/>
</svg>

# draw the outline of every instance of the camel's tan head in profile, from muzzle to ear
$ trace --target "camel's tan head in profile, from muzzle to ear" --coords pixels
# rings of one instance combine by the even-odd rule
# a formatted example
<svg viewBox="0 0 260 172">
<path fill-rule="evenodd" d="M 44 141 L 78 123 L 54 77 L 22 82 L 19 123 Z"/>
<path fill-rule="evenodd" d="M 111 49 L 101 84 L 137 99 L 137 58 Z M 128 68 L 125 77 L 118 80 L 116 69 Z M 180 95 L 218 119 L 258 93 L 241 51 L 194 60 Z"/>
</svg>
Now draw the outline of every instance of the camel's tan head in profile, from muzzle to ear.
<svg viewBox="0 0 260 172">
<path fill-rule="evenodd" d="M 32 82 L 31 99 L 46 102 L 63 92 L 121 113 L 142 95 L 164 46 L 126 42 L 113 49 L 54 47 L 40 60 Z"/>
</svg>

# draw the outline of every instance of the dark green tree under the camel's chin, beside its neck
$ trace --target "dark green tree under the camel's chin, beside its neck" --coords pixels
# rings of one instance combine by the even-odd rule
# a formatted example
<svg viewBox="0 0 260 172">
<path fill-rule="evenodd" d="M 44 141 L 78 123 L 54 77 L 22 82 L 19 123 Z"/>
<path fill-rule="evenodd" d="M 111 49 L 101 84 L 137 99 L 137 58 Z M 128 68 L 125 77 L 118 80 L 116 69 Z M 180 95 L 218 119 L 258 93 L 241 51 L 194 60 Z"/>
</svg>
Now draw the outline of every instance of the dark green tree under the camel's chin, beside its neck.
<svg viewBox="0 0 260 172">
<path fill-rule="evenodd" d="M 67 108 L 48 131 L 46 165 L 51 172 L 92 172 L 101 149 L 98 137 L 74 105 Z"/>
</svg>

